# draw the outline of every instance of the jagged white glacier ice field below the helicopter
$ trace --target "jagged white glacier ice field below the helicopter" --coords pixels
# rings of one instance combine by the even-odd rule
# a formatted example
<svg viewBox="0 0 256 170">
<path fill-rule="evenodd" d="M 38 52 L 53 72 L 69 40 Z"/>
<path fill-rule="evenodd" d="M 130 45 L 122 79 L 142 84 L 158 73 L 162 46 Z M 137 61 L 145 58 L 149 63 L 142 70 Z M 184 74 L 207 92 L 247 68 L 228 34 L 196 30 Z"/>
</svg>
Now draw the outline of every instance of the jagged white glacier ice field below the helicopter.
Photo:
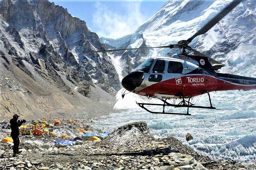
<svg viewBox="0 0 256 170">
<path fill-rule="evenodd" d="M 213 106 L 221 110 L 190 109 L 194 116 L 150 114 L 136 105 L 136 102 L 160 103 L 157 99 L 147 99 L 136 94 L 116 97 L 115 109 L 96 121 L 97 128 L 113 131 L 120 126 L 136 121 L 145 121 L 155 137 L 174 136 L 183 144 L 209 155 L 213 160 L 232 159 L 240 162 L 256 160 L 256 112 L 255 90 L 223 91 L 210 93 Z M 208 106 L 208 95 L 195 97 L 192 102 Z M 121 110 L 126 109 L 126 110 Z M 152 110 L 161 111 L 159 107 Z M 167 108 L 166 108 L 167 111 Z M 169 112 L 186 113 L 186 109 L 170 108 Z M 186 141 L 186 134 L 194 139 Z"/>
</svg>

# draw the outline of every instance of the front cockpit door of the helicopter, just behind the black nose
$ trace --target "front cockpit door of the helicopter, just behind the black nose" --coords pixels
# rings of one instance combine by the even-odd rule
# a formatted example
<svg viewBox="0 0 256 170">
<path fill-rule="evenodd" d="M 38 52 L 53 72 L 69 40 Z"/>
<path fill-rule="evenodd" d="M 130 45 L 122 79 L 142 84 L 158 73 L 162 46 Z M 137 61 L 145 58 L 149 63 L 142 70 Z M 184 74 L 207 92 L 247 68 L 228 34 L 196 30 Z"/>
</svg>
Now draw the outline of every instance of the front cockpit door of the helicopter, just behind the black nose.
<svg viewBox="0 0 256 170">
<path fill-rule="evenodd" d="M 150 96 L 155 96 L 161 93 L 164 72 L 165 72 L 166 62 L 163 59 L 155 60 L 152 70 L 149 72 L 148 78 L 145 80 L 145 85 L 147 88 L 147 94 Z"/>
</svg>

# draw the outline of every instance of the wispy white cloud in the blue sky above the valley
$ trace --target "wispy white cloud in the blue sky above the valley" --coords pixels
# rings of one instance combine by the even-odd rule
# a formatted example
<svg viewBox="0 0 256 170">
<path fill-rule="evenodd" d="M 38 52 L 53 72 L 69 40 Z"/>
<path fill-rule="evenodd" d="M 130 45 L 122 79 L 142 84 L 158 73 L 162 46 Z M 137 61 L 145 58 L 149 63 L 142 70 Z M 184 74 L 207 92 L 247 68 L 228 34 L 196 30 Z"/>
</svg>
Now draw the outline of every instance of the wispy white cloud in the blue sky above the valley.
<svg viewBox="0 0 256 170">
<path fill-rule="evenodd" d="M 122 5 L 123 12 L 115 12 L 106 5 L 96 2 L 93 14 L 93 25 L 98 28 L 97 34 L 102 37 L 119 38 L 135 33 L 146 17 L 141 13 L 141 2 L 129 2 Z"/>
</svg>

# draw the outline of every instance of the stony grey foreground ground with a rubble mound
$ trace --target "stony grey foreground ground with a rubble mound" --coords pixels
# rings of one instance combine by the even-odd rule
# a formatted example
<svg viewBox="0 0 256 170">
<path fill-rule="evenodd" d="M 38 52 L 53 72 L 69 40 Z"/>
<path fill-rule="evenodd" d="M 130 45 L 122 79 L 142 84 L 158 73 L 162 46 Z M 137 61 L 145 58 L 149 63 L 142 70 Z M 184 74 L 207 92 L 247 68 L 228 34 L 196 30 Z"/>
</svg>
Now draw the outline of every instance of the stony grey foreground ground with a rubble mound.
<svg viewBox="0 0 256 170">
<path fill-rule="evenodd" d="M 22 153 L 12 157 L 8 143 L 0 145 L 1 169 L 150 169 L 150 170 L 205 170 L 205 169 L 253 169 L 242 163 L 211 161 L 196 153 L 173 137 L 154 138 L 144 122 L 120 127 L 98 142 L 78 141 L 73 146 L 56 145 L 59 135 L 81 135 L 78 127 L 91 129 L 91 122 L 68 123 L 54 126 L 57 137 L 21 136 Z M 8 130 L 7 130 L 8 131 Z M 7 135 L 6 130 L 1 135 Z M 68 133 L 69 132 L 69 133 Z M 86 132 L 89 133 L 89 132 Z M 73 136 L 72 136 L 73 135 Z M 38 143 L 36 143 L 38 142 Z"/>
</svg>

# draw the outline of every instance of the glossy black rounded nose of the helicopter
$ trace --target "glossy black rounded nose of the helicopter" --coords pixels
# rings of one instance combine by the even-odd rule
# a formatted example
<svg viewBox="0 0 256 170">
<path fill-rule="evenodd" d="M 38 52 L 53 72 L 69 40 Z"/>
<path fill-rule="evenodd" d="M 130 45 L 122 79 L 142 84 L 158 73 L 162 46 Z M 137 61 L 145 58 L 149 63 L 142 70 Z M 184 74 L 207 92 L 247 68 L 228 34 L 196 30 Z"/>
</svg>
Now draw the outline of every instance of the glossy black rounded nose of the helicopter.
<svg viewBox="0 0 256 170">
<path fill-rule="evenodd" d="M 122 80 L 122 86 L 128 90 L 133 91 L 136 87 L 139 87 L 144 80 L 145 76 L 144 72 L 131 72 L 127 76 L 125 76 Z"/>
</svg>

